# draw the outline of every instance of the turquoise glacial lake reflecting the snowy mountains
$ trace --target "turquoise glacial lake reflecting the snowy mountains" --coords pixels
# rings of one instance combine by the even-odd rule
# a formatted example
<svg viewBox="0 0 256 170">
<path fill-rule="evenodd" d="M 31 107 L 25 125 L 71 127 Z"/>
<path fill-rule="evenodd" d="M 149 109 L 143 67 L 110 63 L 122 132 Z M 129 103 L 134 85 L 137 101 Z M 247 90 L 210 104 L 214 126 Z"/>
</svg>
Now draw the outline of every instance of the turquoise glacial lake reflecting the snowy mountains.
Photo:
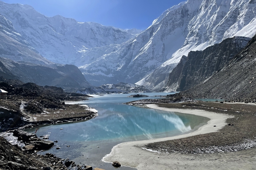
<svg viewBox="0 0 256 170">
<path fill-rule="evenodd" d="M 41 154 L 50 152 L 63 159 L 69 158 L 76 164 L 114 170 L 111 163 L 101 161 L 111 152 L 113 146 L 126 141 L 191 133 L 209 121 L 206 117 L 191 114 L 123 104 L 140 99 L 159 99 L 160 97 L 154 97 L 154 95 L 171 93 L 140 93 L 149 97 L 127 97 L 131 94 L 91 95 L 93 98 L 90 100 L 69 102 L 68 104 L 86 104 L 93 107 L 98 110 L 99 116 L 83 122 L 40 126 L 37 136 L 48 135 L 48 140 L 58 141 L 52 149 L 42 151 Z M 35 133 L 35 130 L 36 128 L 32 128 L 26 131 Z M 61 149 L 56 150 L 57 147 Z M 119 169 L 135 170 L 130 167 Z"/>
</svg>

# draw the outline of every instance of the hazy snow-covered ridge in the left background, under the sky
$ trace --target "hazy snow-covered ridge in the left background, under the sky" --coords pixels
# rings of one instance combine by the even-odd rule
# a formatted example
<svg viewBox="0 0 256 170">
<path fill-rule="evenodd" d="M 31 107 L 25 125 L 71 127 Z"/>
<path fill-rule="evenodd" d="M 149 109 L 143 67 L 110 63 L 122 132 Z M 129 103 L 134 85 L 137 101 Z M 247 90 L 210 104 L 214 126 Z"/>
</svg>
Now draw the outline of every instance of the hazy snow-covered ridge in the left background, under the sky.
<svg viewBox="0 0 256 170">
<path fill-rule="evenodd" d="M 88 49 L 120 44 L 141 32 L 94 22 L 78 22 L 61 15 L 47 17 L 30 5 L 0 1 L 0 7 L 0 14 L 12 22 L 17 32 L 43 57 L 55 63 L 76 66 L 89 64 L 94 61 L 93 57 L 83 57 Z"/>
</svg>

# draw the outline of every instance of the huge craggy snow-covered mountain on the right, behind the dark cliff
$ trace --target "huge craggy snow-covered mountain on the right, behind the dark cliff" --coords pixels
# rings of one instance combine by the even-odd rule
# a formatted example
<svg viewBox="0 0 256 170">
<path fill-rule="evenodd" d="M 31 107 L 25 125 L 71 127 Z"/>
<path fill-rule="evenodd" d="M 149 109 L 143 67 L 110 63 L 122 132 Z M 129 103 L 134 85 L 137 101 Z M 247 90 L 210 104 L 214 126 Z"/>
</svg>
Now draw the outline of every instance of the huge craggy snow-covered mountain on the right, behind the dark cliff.
<svg viewBox="0 0 256 170">
<path fill-rule="evenodd" d="M 95 82 L 131 82 L 163 88 L 183 55 L 233 36 L 253 37 L 256 4 L 251 0 L 188 0 L 168 9 L 141 34 L 80 69 Z M 100 50 L 93 49 L 94 53 Z M 106 51 L 106 50 L 104 50 Z M 91 53 L 92 54 L 92 53 Z M 142 80 L 141 80 L 142 79 Z M 105 82 L 104 81 L 104 82 Z"/>
</svg>

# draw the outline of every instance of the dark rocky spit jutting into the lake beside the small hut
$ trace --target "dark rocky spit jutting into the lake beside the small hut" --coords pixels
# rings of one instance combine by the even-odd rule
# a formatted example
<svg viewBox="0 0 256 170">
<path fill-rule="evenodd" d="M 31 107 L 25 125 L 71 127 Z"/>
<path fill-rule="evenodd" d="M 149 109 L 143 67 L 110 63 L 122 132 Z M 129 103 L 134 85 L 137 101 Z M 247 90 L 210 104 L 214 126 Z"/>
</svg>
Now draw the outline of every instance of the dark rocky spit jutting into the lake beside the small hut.
<svg viewBox="0 0 256 170">
<path fill-rule="evenodd" d="M 90 96 L 66 93 L 60 87 L 41 87 L 35 83 L 23 83 L 20 80 L 7 80 L 0 77 L 0 88 L 8 92 L 7 100 L 0 100 L 0 132 L 30 123 L 51 123 L 55 122 L 55 119 L 77 117 L 77 114 L 67 115 L 71 110 L 79 113 L 81 117 L 92 114 L 79 105 L 62 103 L 67 100 L 88 100 L 87 97 Z M 54 114 L 57 110 L 61 115 Z M 34 120 L 35 116 L 37 118 Z"/>
</svg>

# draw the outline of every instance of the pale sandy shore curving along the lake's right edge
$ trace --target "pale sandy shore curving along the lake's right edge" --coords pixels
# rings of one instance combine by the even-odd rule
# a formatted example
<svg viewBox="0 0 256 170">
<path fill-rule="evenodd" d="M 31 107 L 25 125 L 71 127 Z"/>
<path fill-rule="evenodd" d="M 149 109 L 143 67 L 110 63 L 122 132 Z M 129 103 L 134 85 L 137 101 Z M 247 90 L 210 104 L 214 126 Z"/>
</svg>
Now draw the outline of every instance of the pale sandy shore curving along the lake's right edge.
<svg viewBox="0 0 256 170">
<path fill-rule="evenodd" d="M 182 112 L 186 114 L 194 114 L 198 116 L 204 116 L 211 119 L 208 121 L 208 124 L 200 127 L 197 131 L 194 131 L 189 134 L 183 134 L 179 136 L 173 136 L 169 138 L 160 138 L 160 139 L 151 139 L 145 141 L 133 141 L 127 143 L 121 143 L 119 145 L 114 146 L 112 151 L 109 155 L 106 155 L 103 158 L 104 162 L 114 162 L 118 161 L 121 163 L 122 166 L 129 166 L 133 168 L 137 168 L 138 170 L 170 170 L 170 169 L 216 169 L 218 168 L 219 164 L 216 163 L 216 156 L 218 154 L 208 154 L 207 159 L 205 159 L 205 155 L 182 155 L 177 153 L 171 154 L 164 154 L 164 153 L 157 153 L 157 152 L 150 152 L 147 150 L 142 150 L 140 147 L 136 146 L 143 146 L 147 143 L 154 143 L 159 141 L 167 141 L 173 139 L 180 139 L 186 138 L 189 136 L 194 136 L 197 134 L 206 134 L 212 133 L 220 130 L 223 126 L 226 125 L 226 119 L 232 118 L 233 116 L 227 114 L 218 114 L 215 112 L 209 112 L 205 110 L 196 110 L 196 109 L 170 109 L 164 107 L 158 107 L 156 104 L 148 104 L 147 107 L 154 108 L 154 109 L 161 109 L 171 112 Z M 216 127 L 213 127 L 216 126 Z M 232 156 L 232 153 L 225 153 L 226 156 Z M 211 158 L 212 155 L 212 158 Z M 255 158 L 253 158 L 255 160 Z M 213 161 L 214 160 L 214 161 Z M 234 161 L 234 159 L 232 159 Z M 220 162 L 220 165 L 228 165 L 231 169 L 237 169 L 237 166 L 234 165 L 234 162 L 231 161 L 227 164 L 227 161 Z M 232 163 L 233 162 L 233 163 Z M 239 163 L 239 161 L 236 161 Z M 202 165 L 201 165 L 202 164 Z M 244 169 L 245 167 L 241 165 L 241 168 Z M 216 167 L 217 166 L 217 167 Z M 253 165 L 252 165 L 253 166 Z M 223 166 L 220 166 L 223 168 Z"/>
</svg>

